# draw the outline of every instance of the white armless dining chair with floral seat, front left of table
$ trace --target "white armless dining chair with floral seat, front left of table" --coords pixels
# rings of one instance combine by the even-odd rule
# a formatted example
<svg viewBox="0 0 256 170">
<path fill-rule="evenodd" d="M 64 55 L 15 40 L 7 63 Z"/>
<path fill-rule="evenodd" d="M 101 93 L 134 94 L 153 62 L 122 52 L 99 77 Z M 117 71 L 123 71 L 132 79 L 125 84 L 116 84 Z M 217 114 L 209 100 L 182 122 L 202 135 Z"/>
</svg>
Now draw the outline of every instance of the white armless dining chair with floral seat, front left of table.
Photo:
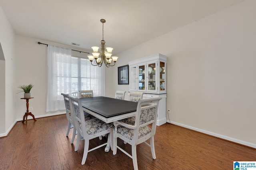
<svg viewBox="0 0 256 170">
<path fill-rule="evenodd" d="M 84 114 L 82 104 L 79 98 L 74 98 L 72 96 L 69 97 L 70 99 L 70 110 L 71 116 L 74 120 L 74 125 L 78 131 L 77 134 L 77 144 L 75 147 L 75 151 L 78 150 L 78 145 L 80 141 L 80 137 L 84 138 L 84 154 L 82 158 L 82 165 L 85 164 L 88 152 L 103 147 L 105 145 L 110 145 L 112 135 L 113 135 L 113 125 L 105 123 L 98 118 L 90 119 L 84 121 Z M 108 134 L 108 141 L 102 145 L 94 147 L 89 150 L 89 141 L 90 139 L 94 139 L 96 137 L 100 137 L 102 135 Z M 108 151 L 105 149 L 105 151 Z"/>
</svg>

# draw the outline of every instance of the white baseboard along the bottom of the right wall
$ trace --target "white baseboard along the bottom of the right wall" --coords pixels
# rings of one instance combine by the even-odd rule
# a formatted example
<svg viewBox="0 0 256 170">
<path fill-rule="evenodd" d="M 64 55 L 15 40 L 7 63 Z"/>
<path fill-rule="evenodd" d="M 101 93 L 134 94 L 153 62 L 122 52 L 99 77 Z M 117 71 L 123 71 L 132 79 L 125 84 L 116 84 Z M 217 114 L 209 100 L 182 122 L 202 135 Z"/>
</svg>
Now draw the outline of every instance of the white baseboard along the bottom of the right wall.
<svg viewBox="0 0 256 170">
<path fill-rule="evenodd" d="M 174 125 L 178 125 L 178 126 L 181 126 L 181 127 L 186 127 L 188 129 L 191 129 L 191 130 L 194 130 L 194 131 L 205 133 L 205 134 L 208 134 L 208 135 L 211 135 L 211 136 L 214 136 L 214 137 L 218 137 L 218 138 L 221 138 L 221 139 L 225 139 L 225 140 L 228 140 L 228 141 L 232 141 L 234 143 L 239 143 L 239 144 L 242 144 L 242 145 L 245 145 L 245 146 L 252 147 L 252 148 L 256 149 L 256 144 L 254 144 L 254 143 L 249 143 L 249 142 L 246 142 L 246 141 L 241 141 L 239 139 L 234 139 L 234 138 L 227 137 L 227 136 L 224 136 L 224 135 L 220 135 L 220 134 L 217 134 L 217 133 L 205 131 L 205 130 L 202 130 L 202 129 L 198 129 L 196 127 L 192 127 L 192 126 L 188 126 L 188 125 L 183 125 L 181 123 L 177 123 L 177 122 L 174 122 L 174 121 L 167 120 L 167 122 L 168 123 L 172 123 Z"/>
</svg>

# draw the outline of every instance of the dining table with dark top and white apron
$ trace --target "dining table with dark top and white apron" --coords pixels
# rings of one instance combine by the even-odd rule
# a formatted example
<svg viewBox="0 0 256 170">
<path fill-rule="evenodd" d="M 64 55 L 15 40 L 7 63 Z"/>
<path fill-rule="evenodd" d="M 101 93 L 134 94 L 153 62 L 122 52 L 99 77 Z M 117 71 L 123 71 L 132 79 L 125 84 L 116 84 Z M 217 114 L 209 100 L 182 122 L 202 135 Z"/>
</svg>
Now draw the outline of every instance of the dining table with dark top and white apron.
<svg viewBox="0 0 256 170">
<path fill-rule="evenodd" d="M 138 105 L 138 102 L 104 96 L 80 98 L 80 101 L 84 111 L 106 123 L 112 123 L 127 117 L 135 116 Z M 111 141 L 113 141 L 113 139 L 111 139 Z M 105 151 L 108 152 L 109 150 L 110 145 L 107 145 Z"/>
</svg>

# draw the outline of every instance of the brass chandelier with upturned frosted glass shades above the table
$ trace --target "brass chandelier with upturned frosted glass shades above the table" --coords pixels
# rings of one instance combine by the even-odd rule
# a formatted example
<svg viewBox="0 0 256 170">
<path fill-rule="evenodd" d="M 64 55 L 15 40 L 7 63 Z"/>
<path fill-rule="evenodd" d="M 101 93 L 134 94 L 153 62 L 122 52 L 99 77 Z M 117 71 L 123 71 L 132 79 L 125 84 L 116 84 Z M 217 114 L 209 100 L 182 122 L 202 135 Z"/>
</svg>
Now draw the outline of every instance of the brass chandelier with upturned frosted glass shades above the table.
<svg viewBox="0 0 256 170">
<path fill-rule="evenodd" d="M 88 55 L 87 57 L 89 58 L 91 64 L 94 66 L 101 67 L 103 63 L 107 67 L 114 66 L 116 64 L 118 57 L 112 56 L 113 48 L 105 46 L 104 23 L 106 22 L 106 20 L 101 19 L 100 22 L 102 23 L 102 40 L 100 41 L 101 42 L 100 47 L 95 47 L 95 46 L 92 47 L 93 53 L 92 55 Z M 101 50 L 100 53 L 98 53 L 99 48 Z M 92 63 L 93 60 L 94 60 L 94 63 Z"/>
</svg>

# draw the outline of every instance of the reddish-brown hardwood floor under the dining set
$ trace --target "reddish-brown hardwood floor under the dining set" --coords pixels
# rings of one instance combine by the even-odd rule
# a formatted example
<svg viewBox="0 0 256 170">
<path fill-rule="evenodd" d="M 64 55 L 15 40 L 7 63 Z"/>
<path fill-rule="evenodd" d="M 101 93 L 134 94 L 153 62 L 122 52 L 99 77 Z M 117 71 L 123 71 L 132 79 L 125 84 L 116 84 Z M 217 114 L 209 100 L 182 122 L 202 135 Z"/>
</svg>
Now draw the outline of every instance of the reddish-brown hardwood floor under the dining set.
<svg viewBox="0 0 256 170">
<path fill-rule="evenodd" d="M 132 159 L 117 150 L 104 152 L 104 147 L 88 153 L 81 164 L 84 141 L 78 151 L 70 144 L 72 129 L 66 137 L 65 115 L 45 117 L 25 125 L 17 122 L 8 137 L 0 139 L 0 170 L 132 170 Z M 90 141 L 90 147 L 106 141 Z M 74 141 L 74 144 L 76 140 Z M 130 145 L 118 145 L 131 153 Z M 256 149 L 244 147 L 189 129 L 166 123 L 157 127 L 156 160 L 150 147 L 137 146 L 140 170 L 231 170 L 233 161 L 256 161 Z"/>
</svg>

